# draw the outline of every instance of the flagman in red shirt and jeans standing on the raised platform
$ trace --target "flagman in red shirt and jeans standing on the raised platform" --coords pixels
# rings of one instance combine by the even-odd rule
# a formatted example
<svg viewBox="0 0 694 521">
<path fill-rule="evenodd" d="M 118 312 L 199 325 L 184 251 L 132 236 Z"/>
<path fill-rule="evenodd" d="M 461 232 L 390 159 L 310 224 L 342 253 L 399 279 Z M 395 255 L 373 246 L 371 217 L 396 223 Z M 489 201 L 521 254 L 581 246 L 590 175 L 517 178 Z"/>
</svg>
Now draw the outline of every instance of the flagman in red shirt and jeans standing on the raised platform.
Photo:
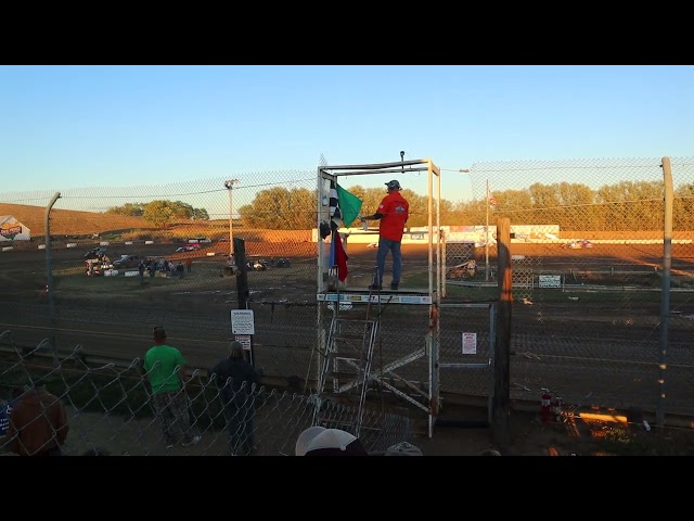
<svg viewBox="0 0 694 521">
<path fill-rule="evenodd" d="M 385 271 L 386 256 L 393 253 L 393 280 L 390 289 L 397 290 L 402 274 L 402 254 L 400 242 L 404 225 L 410 216 L 410 203 L 400 193 L 400 182 L 397 179 L 386 182 L 388 195 L 383 198 L 378 209 L 373 215 L 361 218 L 365 220 L 381 220 L 378 226 L 378 253 L 376 255 L 377 280 L 369 287 L 370 290 L 383 289 L 383 274 Z"/>
</svg>

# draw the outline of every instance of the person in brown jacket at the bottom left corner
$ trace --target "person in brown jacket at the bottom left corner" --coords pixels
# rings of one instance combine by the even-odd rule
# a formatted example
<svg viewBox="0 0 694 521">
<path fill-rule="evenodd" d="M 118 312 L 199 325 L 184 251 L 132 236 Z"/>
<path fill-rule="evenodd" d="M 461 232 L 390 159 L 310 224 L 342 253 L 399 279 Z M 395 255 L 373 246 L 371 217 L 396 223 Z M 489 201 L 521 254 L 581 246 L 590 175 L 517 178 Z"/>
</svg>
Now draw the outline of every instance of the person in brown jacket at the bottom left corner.
<svg viewBox="0 0 694 521">
<path fill-rule="evenodd" d="M 62 456 L 69 425 L 62 402 L 42 382 L 24 392 L 10 414 L 5 441 L 20 456 Z"/>
</svg>

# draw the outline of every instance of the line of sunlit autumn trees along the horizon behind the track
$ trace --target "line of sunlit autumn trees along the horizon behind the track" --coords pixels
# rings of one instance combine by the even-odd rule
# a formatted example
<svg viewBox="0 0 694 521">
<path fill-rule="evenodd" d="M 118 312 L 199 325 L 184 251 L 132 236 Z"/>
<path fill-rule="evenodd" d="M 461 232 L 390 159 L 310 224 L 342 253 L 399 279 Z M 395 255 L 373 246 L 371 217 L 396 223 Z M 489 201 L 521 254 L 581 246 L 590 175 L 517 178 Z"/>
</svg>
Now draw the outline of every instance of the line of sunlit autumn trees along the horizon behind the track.
<svg viewBox="0 0 694 521">
<path fill-rule="evenodd" d="M 362 201 L 362 214 L 373 214 L 383 199 L 380 188 L 355 186 L 349 192 Z M 428 199 L 403 189 L 410 203 L 408 226 L 428 224 Z M 571 230 L 661 230 L 664 187 L 658 181 L 620 181 L 593 190 L 587 185 L 536 182 L 522 190 L 493 192 L 497 205 L 473 200 L 451 202 L 440 200 L 444 226 L 485 225 L 509 217 L 515 225 L 558 225 Z M 436 215 L 437 202 L 433 202 Z M 237 225 L 248 228 L 297 230 L 316 228 L 317 192 L 305 188 L 273 187 L 259 191 L 249 203 L 237 208 Z M 181 201 L 128 203 L 107 213 L 141 216 L 155 226 L 166 227 L 182 219 L 209 220 L 207 211 L 193 208 Z M 354 227 L 359 224 L 354 224 Z M 673 228 L 694 229 L 694 183 L 677 188 Z"/>
</svg>

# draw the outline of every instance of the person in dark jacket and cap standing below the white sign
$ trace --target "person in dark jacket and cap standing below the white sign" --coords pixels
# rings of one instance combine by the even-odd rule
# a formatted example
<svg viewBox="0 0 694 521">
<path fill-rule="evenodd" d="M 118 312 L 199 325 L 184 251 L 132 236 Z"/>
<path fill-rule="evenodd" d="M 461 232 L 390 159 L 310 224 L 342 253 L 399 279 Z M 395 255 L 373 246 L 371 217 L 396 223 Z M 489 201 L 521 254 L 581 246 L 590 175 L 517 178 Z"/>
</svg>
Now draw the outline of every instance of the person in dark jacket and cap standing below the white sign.
<svg viewBox="0 0 694 521">
<path fill-rule="evenodd" d="M 229 357 L 217 363 L 209 373 L 217 380 L 224 406 L 229 453 L 248 456 L 255 450 L 253 418 L 260 376 L 244 358 L 243 345 L 235 340 L 229 345 Z"/>
</svg>

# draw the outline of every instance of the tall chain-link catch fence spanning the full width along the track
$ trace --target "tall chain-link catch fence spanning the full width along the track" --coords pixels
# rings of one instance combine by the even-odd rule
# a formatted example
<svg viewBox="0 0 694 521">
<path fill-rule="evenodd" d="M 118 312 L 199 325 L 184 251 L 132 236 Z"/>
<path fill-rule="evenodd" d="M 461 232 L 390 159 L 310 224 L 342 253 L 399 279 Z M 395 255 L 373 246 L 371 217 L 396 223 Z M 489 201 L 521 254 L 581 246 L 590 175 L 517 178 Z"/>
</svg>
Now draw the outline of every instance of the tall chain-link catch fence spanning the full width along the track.
<svg viewBox="0 0 694 521">
<path fill-rule="evenodd" d="M 549 387 L 577 407 L 656 407 L 663 391 L 660 163 L 474 164 L 468 173 L 473 200 L 441 200 L 445 302 L 496 300 L 496 223 L 511 220 L 512 397 L 539 402 L 541 389 Z M 689 399 L 694 384 L 687 378 L 694 160 L 673 158 L 671 165 L 676 196 L 665 404 L 669 414 L 694 414 Z M 442 186 L 449 182 L 445 175 Z M 191 365 L 206 368 L 224 355 L 233 338 L 229 313 L 243 296 L 254 312 L 257 367 L 278 385 L 307 392 L 316 372 L 317 328 L 325 326 L 316 318 L 316 191 L 314 171 L 257 173 L 156 187 L 69 189 L 60 192 L 50 214 L 54 192 L 5 193 L 0 214 L 22 206 L 31 240 L 13 241 L 1 254 L 3 328 L 26 348 L 47 342 L 62 356 L 81 352 L 111 363 L 141 356 L 152 326 L 163 325 Z M 354 192 L 368 208 L 383 195 L 378 189 Z M 404 192 L 413 214 L 409 224 L 426 225 L 426 195 Z M 44 251 L 49 231 L 52 247 Z M 245 244 L 247 295 L 239 295 L 236 277 L 224 270 L 234 238 Z M 93 251 L 98 247 L 105 249 L 105 262 Z M 406 259 L 414 256 L 407 247 Z M 371 272 L 375 253 L 365 243 L 348 240 L 347 253 L 350 272 Z M 87 262 L 94 258 L 101 260 L 100 272 L 89 276 Z M 147 266 L 142 276 L 140 260 Z M 168 270 L 163 260 L 171 263 Z M 424 280 L 425 265 L 406 262 L 404 280 Z M 427 316 L 415 307 L 384 310 L 374 354 L 382 367 L 423 346 Z M 476 356 L 485 358 L 491 334 L 487 312 L 440 313 L 442 361 L 471 359 L 462 352 L 463 333 L 476 333 Z M 425 385 L 426 357 L 401 372 Z M 440 389 L 484 396 L 492 377 L 491 370 L 448 368 Z M 283 397 L 282 403 L 291 402 Z"/>
</svg>

